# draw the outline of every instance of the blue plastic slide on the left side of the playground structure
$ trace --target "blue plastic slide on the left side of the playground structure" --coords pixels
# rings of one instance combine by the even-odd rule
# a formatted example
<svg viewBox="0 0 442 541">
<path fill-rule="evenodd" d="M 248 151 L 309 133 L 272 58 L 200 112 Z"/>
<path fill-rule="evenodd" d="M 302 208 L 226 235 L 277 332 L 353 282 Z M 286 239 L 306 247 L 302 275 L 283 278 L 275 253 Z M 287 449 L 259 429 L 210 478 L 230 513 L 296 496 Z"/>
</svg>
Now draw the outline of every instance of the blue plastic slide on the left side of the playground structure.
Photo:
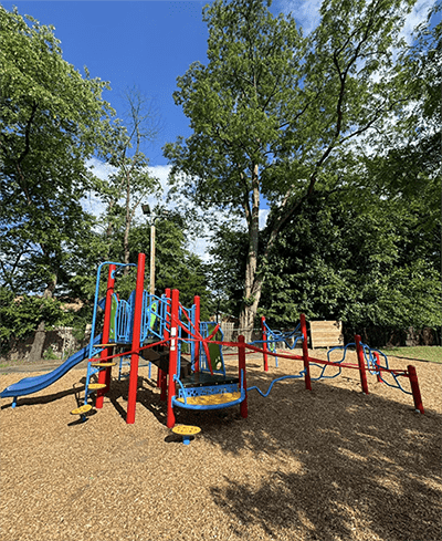
<svg viewBox="0 0 442 541">
<path fill-rule="evenodd" d="M 98 336 L 94 339 L 94 345 L 98 344 L 101 340 L 102 340 L 102 335 L 98 334 Z M 13 400 L 13 406 L 14 406 L 15 398 L 18 396 L 31 395 L 32 393 L 36 393 L 42 388 L 49 387 L 57 379 L 60 379 L 62 376 L 64 376 L 66 372 L 69 372 L 78 363 L 87 358 L 88 350 L 90 350 L 90 345 L 87 344 L 85 347 L 83 347 L 83 350 L 80 350 L 80 352 L 76 352 L 73 355 L 71 355 L 63 364 L 57 366 L 54 371 L 48 372 L 48 374 L 43 374 L 42 376 L 25 377 L 24 379 L 21 379 L 18 383 L 13 383 L 12 385 L 10 385 L 9 387 L 7 387 L 4 391 L 0 393 L 0 397 L 8 398 L 8 396 L 12 396 L 14 398 Z"/>
</svg>

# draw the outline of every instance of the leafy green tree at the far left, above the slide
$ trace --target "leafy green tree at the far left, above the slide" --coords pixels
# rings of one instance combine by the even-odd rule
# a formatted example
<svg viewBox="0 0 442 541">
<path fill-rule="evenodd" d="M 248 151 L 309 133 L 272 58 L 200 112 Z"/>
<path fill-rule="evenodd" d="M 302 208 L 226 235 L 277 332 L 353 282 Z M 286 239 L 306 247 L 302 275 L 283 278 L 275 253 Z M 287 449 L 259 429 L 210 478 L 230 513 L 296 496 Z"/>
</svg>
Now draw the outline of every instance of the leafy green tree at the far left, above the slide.
<svg viewBox="0 0 442 541">
<path fill-rule="evenodd" d="M 63 60 L 53 27 L 28 20 L 0 6 L 1 270 L 15 292 L 51 298 L 65 243 L 82 230 L 86 159 L 104 144 L 110 108 L 106 83 Z M 43 331 L 42 314 L 31 360 Z"/>
</svg>

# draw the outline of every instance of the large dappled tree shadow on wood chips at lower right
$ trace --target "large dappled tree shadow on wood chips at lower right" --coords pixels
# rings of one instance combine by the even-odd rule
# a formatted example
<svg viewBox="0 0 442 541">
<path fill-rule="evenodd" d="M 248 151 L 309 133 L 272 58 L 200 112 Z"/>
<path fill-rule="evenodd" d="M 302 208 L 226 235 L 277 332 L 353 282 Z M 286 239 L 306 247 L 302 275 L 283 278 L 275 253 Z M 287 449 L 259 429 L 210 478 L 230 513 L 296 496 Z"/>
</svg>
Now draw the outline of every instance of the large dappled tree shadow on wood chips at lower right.
<svg viewBox="0 0 442 541">
<path fill-rule="evenodd" d="M 273 377 L 254 375 L 253 384 L 266 389 Z M 137 402 L 166 425 L 167 405 L 146 382 L 139 377 Z M 441 539 L 440 414 L 414 413 L 411 396 L 402 404 L 356 387 L 314 383 L 307 392 L 304 382 L 293 379 L 277 385 L 267 398 L 249 394 L 248 419 L 239 407 L 176 408 L 177 423 L 199 426 L 199 438 L 221 448 L 227 459 L 246 450 L 267 470 L 271 465 L 270 479 L 259 486 L 218 480 L 211 496 L 223 512 L 245 528 L 260 524 L 275 539 L 296 523 L 317 540 L 358 539 L 358 529 L 367 528 L 388 541 Z M 123 418 L 117 399 L 127 400 L 127 382 L 113 384 L 110 396 Z M 181 438 L 170 435 L 165 441 Z M 234 528 L 232 533 L 241 534 Z"/>
</svg>

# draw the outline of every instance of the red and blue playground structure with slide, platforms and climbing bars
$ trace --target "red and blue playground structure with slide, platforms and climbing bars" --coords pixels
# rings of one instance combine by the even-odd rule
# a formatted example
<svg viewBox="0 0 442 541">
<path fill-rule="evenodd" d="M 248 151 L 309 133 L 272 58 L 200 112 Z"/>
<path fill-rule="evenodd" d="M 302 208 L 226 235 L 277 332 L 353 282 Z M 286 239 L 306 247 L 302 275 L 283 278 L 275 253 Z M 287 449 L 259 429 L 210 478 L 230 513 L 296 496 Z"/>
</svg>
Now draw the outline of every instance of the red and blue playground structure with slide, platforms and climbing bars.
<svg viewBox="0 0 442 541">
<path fill-rule="evenodd" d="M 145 254 L 138 254 L 136 289 L 129 299 L 120 300 L 115 292 L 117 268 L 127 267 L 123 263 L 104 262 L 98 267 L 92 334 L 90 344 L 71 356 L 55 371 L 24 378 L 7 387 L 1 397 L 12 397 L 12 407 L 19 396 L 35 393 L 48 387 L 81 361 L 87 360 L 87 373 L 84 391 L 84 404 L 72 413 L 84 419 L 87 412 L 94 407 L 101 409 L 104 396 L 109 392 L 112 367 L 119 364 L 118 378 L 127 376 L 128 400 L 126 423 L 135 423 L 135 412 L 138 387 L 138 368 L 140 360 L 157 366 L 157 385 L 160 388 L 160 399 L 167 402 L 167 426 L 176 424 L 175 408 L 193 410 L 219 409 L 240 406 L 240 414 L 248 417 L 248 392 L 257 391 L 263 397 L 269 396 L 275 383 L 288 378 L 303 378 L 305 388 L 312 391 L 312 381 L 337 377 L 343 368 L 358 370 L 362 392 L 368 394 L 367 372 L 373 374 L 378 382 L 397 387 L 403 393 L 411 394 L 414 408 L 424 413 L 419 391 L 415 368 L 411 365 L 407 371 L 390 370 L 387 356 L 371 350 L 355 336 L 354 344 L 334 347 L 327 353 L 327 361 L 309 356 L 307 326 L 305 315 L 301 314 L 299 324 L 291 332 L 271 330 L 262 319 L 262 340 L 246 344 L 243 336 L 238 342 L 223 342 L 222 331 L 214 322 L 200 321 L 200 300 L 194 296 L 192 306 L 185 308 L 179 301 L 179 291 L 167 289 L 165 294 L 156 296 L 144 290 Z M 102 269 L 108 266 L 106 295 L 99 300 L 99 283 Z M 104 309 L 102 332 L 95 335 L 98 308 Z M 302 355 L 278 353 L 276 344 L 284 342 L 290 350 L 302 345 Z M 238 350 L 238 377 L 227 374 L 223 346 Z M 357 352 L 357 364 L 346 362 L 350 347 Z M 333 352 L 341 351 L 339 361 L 332 361 Z M 257 387 L 246 387 L 246 354 L 263 355 L 264 371 L 269 371 L 269 356 L 302 361 L 303 370 L 297 374 L 285 375 L 273 379 L 264 393 Z M 383 364 L 380 358 L 382 357 Z M 124 367 L 129 367 L 128 374 Z M 317 376 L 312 376 L 312 368 L 318 370 Z M 330 372 L 333 374 L 330 374 Z M 410 381 L 411 391 L 406 391 L 401 378 Z M 390 381 L 388 379 L 391 379 Z M 92 394 L 95 394 L 95 400 Z"/>
</svg>

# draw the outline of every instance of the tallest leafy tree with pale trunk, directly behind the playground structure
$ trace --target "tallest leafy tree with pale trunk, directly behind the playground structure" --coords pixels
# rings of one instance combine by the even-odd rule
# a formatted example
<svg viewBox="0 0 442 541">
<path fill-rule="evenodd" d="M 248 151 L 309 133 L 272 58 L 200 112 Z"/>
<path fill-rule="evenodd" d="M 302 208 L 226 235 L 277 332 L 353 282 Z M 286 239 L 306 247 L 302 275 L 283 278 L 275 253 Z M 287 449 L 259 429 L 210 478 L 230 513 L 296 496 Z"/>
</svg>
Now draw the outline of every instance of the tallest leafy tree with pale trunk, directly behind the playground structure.
<svg viewBox="0 0 442 541">
<path fill-rule="evenodd" d="M 215 0 L 206 8 L 208 65 L 178 79 L 175 101 L 193 131 L 165 147 L 171 181 L 204 209 L 241 214 L 249 247 L 240 325 L 251 330 L 265 264 L 282 226 L 349 143 L 382 122 L 403 95 L 392 84 L 392 46 L 412 0 L 332 0 L 303 38 L 271 1 Z M 259 263 L 259 217 L 273 209 Z"/>
</svg>

